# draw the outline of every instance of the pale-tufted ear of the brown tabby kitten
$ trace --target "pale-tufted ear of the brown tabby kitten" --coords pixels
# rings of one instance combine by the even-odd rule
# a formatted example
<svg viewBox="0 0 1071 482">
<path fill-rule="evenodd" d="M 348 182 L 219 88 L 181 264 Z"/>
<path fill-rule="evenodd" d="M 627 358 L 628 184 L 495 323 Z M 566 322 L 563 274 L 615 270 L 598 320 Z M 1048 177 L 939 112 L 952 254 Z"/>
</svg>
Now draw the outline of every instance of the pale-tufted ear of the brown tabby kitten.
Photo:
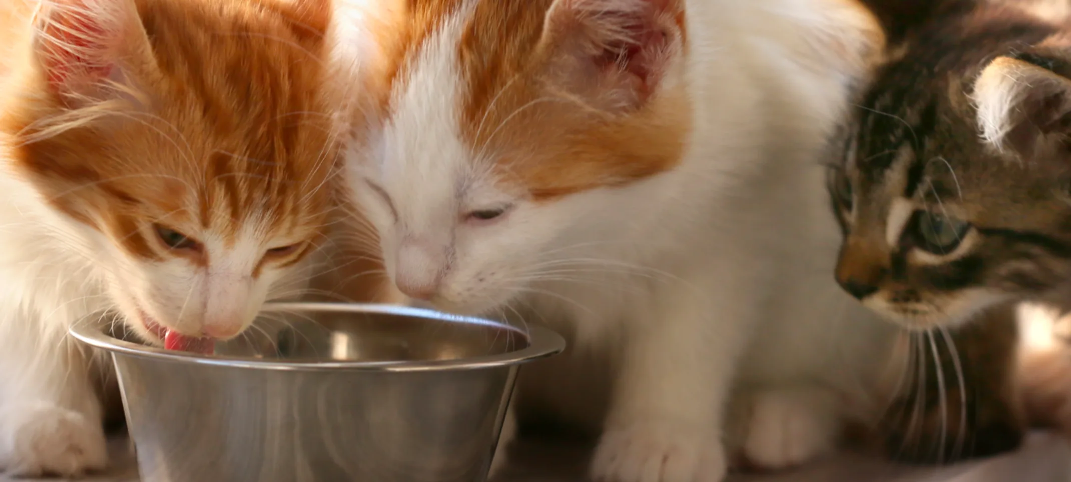
<svg viewBox="0 0 1071 482">
<path fill-rule="evenodd" d="M 996 150 L 1032 159 L 1061 149 L 1071 134 L 1071 63 L 1021 54 L 998 57 L 971 94 L 982 137 Z"/>
</svg>

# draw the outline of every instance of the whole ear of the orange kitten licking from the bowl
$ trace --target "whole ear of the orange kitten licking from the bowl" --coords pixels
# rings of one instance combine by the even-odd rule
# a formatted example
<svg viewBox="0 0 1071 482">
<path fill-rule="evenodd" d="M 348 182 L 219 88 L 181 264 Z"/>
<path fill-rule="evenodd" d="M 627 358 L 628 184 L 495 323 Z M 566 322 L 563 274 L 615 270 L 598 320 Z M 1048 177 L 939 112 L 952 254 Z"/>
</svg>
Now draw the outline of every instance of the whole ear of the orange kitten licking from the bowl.
<svg viewBox="0 0 1071 482">
<path fill-rule="evenodd" d="M 34 19 L 33 56 L 48 87 L 66 102 L 95 99 L 122 82 L 121 61 L 147 47 L 130 0 L 43 0 Z"/>
</svg>

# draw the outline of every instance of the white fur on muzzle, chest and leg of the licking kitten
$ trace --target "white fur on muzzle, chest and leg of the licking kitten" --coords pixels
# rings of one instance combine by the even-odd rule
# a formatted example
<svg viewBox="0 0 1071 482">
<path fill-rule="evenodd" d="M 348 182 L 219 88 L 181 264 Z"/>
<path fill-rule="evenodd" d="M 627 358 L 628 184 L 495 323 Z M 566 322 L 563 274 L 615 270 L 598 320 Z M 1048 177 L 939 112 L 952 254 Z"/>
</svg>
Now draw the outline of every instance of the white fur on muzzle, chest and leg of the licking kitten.
<svg viewBox="0 0 1071 482">
<path fill-rule="evenodd" d="M 2 155 L 2 153 L 0 153 Z M 200 333 L 209 323 L 232 333 L 253 320 L 284 273 L 250 280 L 260 241 L 208 244 L 207 271 L 176 260 L 131 258 L 100 232 L 46 206 L 25 182 L 0 176 L 0 466 L 33 476 L 76 476 L 106 462 L 102 408 L 93 374 L 109 371 L 66 335 L 104 312 L 148 334 L 138 307 L 166 327 Z M 300 270 L 299 270 L 300 272 Z M 295 272 L 303 278 L 303 273 Z M 298 277 L 298 276 L 296 276 Z M 290 288 L 298 284 L 288 285 Z M 103 363 L 103 364 L 102 364 Z"/>
</svg>

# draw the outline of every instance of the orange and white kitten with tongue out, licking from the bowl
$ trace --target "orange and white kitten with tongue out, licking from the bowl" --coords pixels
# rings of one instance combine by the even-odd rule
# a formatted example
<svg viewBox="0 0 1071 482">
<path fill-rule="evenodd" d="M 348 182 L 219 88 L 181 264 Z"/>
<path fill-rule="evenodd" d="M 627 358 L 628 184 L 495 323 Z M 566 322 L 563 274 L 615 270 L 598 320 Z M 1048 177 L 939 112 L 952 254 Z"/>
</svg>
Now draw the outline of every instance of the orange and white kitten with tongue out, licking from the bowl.
<svg viewBox="0 0 1071 482">
<path fill-rule="evenodd" d="M 300 288 L 332 209 L 328 0 L 0 2 L 0 464 L 106 465 L 66 336 L 229 338 Z M 3 60 L 0 60 L 3 61 Z"/>
</svg>

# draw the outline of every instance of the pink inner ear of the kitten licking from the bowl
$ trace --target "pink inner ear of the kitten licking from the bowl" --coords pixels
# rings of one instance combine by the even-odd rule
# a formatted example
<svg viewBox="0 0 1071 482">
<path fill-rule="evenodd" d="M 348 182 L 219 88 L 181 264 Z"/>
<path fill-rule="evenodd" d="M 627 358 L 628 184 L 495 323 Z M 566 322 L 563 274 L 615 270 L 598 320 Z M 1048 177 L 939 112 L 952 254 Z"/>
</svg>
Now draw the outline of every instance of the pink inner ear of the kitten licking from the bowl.
<svg viewBox="0 0 1071 482">
<path fill-rule="evenodd" d="M 48 84 L 61 92 L 95 82 L 111 73 L 106 60 L 109 32 L 82 15 L 55 12 L 41 32 L 41 54 Z"/>
</svg>

